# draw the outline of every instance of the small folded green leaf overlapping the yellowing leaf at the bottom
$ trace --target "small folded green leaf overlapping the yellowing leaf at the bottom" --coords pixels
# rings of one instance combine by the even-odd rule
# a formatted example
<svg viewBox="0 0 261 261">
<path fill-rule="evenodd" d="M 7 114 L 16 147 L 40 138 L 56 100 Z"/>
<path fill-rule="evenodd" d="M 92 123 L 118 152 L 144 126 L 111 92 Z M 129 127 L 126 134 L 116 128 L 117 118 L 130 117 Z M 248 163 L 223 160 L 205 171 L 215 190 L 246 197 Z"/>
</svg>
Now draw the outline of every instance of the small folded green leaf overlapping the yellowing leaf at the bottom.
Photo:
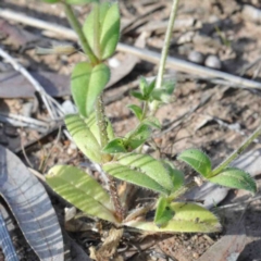
<svg viewBox="0 0 261 261">
<path fill-rule="evenodd" d="M 175 212 L 171 209 L 167 199 L 160 197 L 157 203 L 154 223 L 158 227 L 163 227 L 173 219 Z"/>
</svg>

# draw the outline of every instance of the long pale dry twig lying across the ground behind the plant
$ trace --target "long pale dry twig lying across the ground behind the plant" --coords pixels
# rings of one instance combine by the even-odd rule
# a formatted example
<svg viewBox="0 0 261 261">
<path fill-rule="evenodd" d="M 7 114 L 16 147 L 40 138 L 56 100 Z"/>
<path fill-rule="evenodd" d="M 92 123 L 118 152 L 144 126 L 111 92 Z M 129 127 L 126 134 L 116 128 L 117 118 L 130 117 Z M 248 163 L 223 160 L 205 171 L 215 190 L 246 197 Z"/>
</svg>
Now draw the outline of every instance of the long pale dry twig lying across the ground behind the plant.
<svg viewBox="0 0 261 261">
<path fill-rule="evenodd" d="M 58 26 L 45 21 L 40 21 L 34 17 L 29 17 L 25 14 L 18 14 L 12 12 L 11 10 L 0 9 L 0 16 L 3 18 L 12 20 L 18 23 L 27 24 L 36 28 L 44 30 L 53 32 L 53 37 L 65 37 L 71 40 L 77 40 L 76 34 L 64 26 Z M 160 53 L 154 51 L 140 49 L 136 47 L 130 47 L 125 44 L 117 45 L 117 51 L 123 51 L 137 55 L 138 58 L 158 64 L 160 61 Z M 213 69 L 204 67 L 188 61 L 184 61 L 177 58 L 169 57 L 166 60 L 166 67 L 176 70 L 178 72 L 184 72 L 188 74 L 197 75 L 198 78 L 203 78 L 207 80 L 224 80 L 223 84 L 232 86 L 234 88 L 250 88 L 250 89 L 261 89 L 261 83 L 246 79 L 239 76 L 235 76 L 228 73 L 220 72 Z"/>
</svg>

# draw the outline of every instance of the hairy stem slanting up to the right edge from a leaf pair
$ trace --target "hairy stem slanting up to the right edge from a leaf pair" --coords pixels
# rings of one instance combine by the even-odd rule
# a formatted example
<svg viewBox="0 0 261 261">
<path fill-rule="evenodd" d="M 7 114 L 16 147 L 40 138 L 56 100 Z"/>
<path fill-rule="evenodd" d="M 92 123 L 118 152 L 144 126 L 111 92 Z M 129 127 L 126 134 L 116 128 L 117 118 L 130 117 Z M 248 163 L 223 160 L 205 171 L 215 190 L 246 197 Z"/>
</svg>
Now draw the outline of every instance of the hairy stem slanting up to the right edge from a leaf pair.
<svg viewBox="0 0 261 261">
<path fill-rule="evenodd" d="M 216 166 L 212 176 L 217 175 L 221 171 L 223 171 L 227 165 L 235 160 L 258 136 L 261 135 L 261 125 L 250 135 L 239 148 L 237 148 L 227 159 L 225 159 L 219 166 Z"/>
</svg>

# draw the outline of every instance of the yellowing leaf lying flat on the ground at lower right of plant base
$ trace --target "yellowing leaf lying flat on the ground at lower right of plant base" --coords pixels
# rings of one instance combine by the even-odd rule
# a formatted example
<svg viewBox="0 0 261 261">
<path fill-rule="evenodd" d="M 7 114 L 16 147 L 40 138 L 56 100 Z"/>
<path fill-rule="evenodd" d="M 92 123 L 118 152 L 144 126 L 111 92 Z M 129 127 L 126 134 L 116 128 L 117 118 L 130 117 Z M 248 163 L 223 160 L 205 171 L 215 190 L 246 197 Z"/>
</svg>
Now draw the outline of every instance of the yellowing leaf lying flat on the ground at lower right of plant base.
<svg viewBox="0 0 261 261">
<path fill-rule="evenodd" d="M 154 222 L 140 220 L 133 220 L 124 225 L 147 232 L 213 233 L 221 231 L 219 219 L 198 204 L 173 202 L 170 208 L 174 212 L 174 216 L 165 226 L 158 227 Z"/>
</svg>

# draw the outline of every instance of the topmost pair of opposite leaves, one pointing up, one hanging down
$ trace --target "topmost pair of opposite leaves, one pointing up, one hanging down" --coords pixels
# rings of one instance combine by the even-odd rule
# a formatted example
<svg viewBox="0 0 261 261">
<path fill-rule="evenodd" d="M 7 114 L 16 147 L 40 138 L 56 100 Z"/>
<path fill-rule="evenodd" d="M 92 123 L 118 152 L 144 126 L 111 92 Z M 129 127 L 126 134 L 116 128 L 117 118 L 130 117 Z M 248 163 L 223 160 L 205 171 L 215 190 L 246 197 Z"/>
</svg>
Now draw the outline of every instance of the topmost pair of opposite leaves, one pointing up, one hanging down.
<svg viewBox="0 0 261 261">
<path fill-rule="evenodd" d="M 71 89 L 79 113 L 87 117 L 95 102 L 110 80 L 110 69 L 102 63 L 111 57 L 120 37 L 120 11 L 117 4 L 97 4 L 83 25 L 83 33 L 98 64 L 80 62 L 71 76 Z"/>
</svg>

